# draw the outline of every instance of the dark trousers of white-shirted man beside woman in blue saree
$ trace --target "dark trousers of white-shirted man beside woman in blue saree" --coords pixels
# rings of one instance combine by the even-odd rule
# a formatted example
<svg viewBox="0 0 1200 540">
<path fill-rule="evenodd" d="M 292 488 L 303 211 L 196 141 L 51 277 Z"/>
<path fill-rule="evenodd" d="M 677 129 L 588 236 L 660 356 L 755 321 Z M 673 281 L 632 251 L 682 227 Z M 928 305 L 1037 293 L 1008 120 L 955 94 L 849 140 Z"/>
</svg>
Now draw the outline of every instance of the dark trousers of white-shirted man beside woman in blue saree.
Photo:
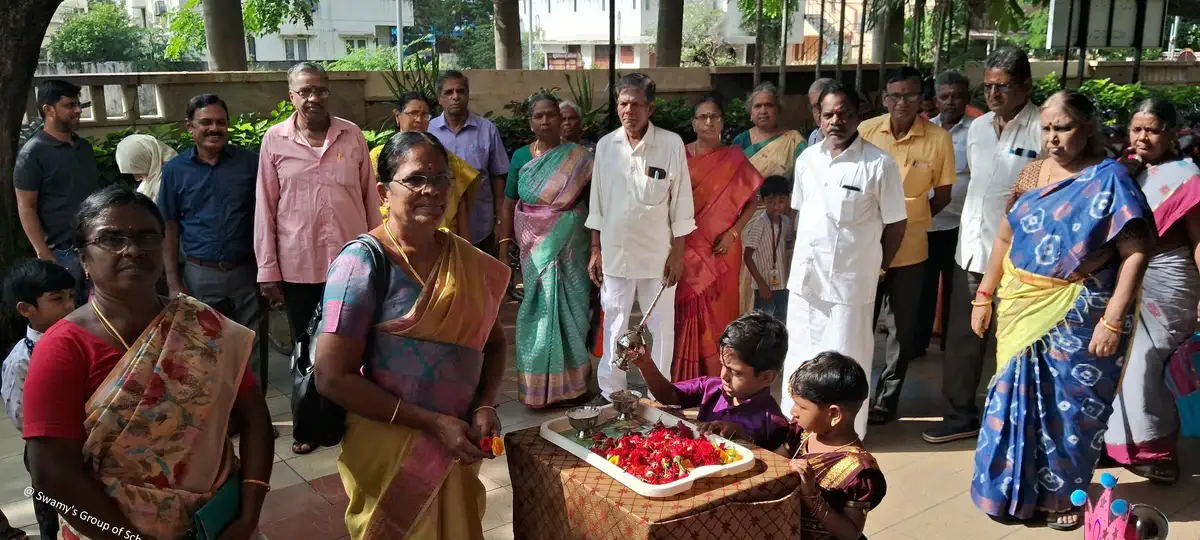
<svg viewBox="0 0 1200 540">
<path fill-rule="evenodd" d="M 954 294 L 950 318 L 946 326 L 946 355 L 942 359 L 942 396 L 949 403 L 946 421 L 970 427 L 979 426 L 976 390 L 983 377 L 983 362 L 989 348 L 996 349 L 996 323 L 988 325 L 983 338 L 971 330 L 971 302 L 983 274 L 954 269 Z"/>
</svg>

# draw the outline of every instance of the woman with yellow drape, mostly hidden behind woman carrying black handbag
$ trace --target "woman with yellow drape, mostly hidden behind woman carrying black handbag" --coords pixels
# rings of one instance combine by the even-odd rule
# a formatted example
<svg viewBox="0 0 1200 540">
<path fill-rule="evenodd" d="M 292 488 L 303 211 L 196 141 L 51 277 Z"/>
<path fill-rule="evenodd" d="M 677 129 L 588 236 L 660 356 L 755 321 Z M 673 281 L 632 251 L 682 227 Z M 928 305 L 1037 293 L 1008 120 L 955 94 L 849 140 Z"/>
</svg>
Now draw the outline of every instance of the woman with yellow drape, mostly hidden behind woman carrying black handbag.
<svg viewBox="0 0 1200 540">
<path fill-rule="evenodd" d="M 430 131 L 430 119 L 433 114 L 433 107 L 430 104 L 430 100 L 421 92 L 402 94 L 392 113 L 396 115 L 396 128 L 401 133 L 406 131 L 421 133 Z M 376 175 L 379 174 L 378 163 L 379 152 L 382 151 L 382 144 L 371 150 L 371 167 L 376 169 Z M 442 227 L 450 229 L 454 234 L 467 234 L 470 202 L 475 197 L 475 190 L 479 188 L 479 170 L 475 170 L 466 161 L 454 155 L 454 152 L 448 152 L 446 155 L 450 157 L 449 167 L 454 182 L 450 185 L 450 198 L 448 199 L 445 217 L 442 218 Z"/>
</svg>

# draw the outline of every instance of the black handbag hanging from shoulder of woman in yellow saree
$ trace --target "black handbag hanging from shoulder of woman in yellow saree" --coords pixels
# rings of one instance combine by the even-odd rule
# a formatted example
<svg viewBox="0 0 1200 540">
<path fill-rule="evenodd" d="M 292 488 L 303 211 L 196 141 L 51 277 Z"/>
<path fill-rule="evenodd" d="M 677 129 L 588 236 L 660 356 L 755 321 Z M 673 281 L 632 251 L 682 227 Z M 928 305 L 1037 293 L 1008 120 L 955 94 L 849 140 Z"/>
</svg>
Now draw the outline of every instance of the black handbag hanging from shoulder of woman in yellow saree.
<svg viewBox="0 0 1200 540">
<path fill-rule="evenodd" d="M 361 244 L 371 251 L 376 289 L 374 319 L 378 320 L 391 280 L 391 264 L 374 236 L 361 234 L 350 240 L 346 247 L 355 244 Z M 342 247 L 342 251 L 346 251 L 346 247 Z M 299 443 L 337 446 L 346 434 L 346 409 L 317 391 L 313 374 L 312 353 L 317 350 L 317 340 L 320 337 L 320 320 L 322 304 L 317 304 L 317 311 L 313 312 L 308 328 L 295 340 L 292 350 L 292 437 Z M 364 358 L 366 350 L 370 350 L 370 341 L 368 335 Z"/>
</svg>

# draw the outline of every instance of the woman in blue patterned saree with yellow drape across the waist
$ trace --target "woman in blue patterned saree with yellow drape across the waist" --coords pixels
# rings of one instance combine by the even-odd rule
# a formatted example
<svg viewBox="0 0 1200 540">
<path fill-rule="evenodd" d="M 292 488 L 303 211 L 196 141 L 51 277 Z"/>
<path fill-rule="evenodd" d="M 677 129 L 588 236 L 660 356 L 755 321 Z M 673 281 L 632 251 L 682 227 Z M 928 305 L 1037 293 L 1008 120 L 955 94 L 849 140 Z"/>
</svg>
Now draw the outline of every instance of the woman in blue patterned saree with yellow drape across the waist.
<svg viewBox="0 0 1200 540">
<path fill-rule="evenodd" d="M 979 284 L 971 328 L 996 305 L 996 377 L 976 448 L 971 497 L 997 521 L 1082 520 L 1086 490 L 1128 355 L 1153 218 L 1124 166 L 1104 157 L 1081 94 L 1042 109 L 1043 150 L 1018 176 Z"/>
</svg>

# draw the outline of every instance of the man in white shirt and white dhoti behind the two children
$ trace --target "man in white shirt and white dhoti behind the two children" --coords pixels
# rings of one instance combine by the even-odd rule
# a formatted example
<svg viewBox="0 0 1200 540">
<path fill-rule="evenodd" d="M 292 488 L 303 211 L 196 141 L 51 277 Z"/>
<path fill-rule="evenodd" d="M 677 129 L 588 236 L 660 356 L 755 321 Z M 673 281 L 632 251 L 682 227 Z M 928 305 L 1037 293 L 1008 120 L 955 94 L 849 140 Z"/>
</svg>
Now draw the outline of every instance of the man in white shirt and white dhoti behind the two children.
<svg viewBox="0 0 1200 540">
<path fill-rule="evenodd" d="M 798 212 L 787 280 L 784 380 L 826 350 L 853 358 L 871 379 L 875 289 L 904 239 L 906 214 L 900 168 L 858 136 L 853 96 L 836 83 L 822 92 L 826 138 L 796 160 L 792 208 Z M 785 413 L 792 409 L 786 386 L 781 406 Z M 864 438 L 865 408 L 864 401 L 854 422 Z"/>
</svg>

